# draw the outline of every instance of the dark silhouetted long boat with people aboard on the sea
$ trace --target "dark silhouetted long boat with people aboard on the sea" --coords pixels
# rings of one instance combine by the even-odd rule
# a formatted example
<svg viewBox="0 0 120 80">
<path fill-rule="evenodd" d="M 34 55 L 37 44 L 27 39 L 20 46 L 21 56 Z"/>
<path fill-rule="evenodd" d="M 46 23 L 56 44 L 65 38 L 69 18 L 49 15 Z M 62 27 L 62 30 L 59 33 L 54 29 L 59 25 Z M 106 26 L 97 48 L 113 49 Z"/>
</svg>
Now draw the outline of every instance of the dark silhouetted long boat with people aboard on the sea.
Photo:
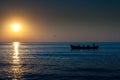
<svg viewBox="0 0 120 80">
<path fill-rule="evenodd" d="M 81 49 L 86 49 L 86 50 L 89 50 L 89 49 L 98 49 L 99 46 L 98 45 L 95 45 L 93 44 L 92 46 L 90 45 L 86 45 L 86 46 L 74 46 L 74 45 L 70 45 L 71 46 L 71 49 L 76 49 L 76 50 L 81 50 Z"/>
</svg>

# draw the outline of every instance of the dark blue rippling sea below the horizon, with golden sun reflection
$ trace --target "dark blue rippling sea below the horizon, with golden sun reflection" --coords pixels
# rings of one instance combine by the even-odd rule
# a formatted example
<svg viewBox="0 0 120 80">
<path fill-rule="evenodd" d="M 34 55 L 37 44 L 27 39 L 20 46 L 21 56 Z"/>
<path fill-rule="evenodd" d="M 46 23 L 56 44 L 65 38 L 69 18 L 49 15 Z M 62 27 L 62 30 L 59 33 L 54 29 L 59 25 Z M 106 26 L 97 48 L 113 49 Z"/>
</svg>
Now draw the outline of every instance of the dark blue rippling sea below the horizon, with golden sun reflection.
<svg viewBox="0 0 120 80">
<path fill-rule="evenodd" d="M 0 80 L 120 80 L 120 43 L 0 43 Z"/>
</svg>

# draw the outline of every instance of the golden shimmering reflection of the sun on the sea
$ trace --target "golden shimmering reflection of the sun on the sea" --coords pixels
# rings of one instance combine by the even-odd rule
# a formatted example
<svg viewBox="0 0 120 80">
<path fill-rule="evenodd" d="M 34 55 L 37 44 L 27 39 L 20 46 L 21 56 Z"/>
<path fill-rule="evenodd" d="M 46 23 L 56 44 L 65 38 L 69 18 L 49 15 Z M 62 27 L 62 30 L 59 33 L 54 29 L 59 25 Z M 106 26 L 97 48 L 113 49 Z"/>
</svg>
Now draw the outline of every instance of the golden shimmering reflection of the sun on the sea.
<svg viewBox="0 0 120 80">
<path fill-rule="evenodd" d="M 14 53 L 12 55 L 12 66 L 11 66 L 12 80 L 21 79 L 21 75 L 23 72 L 21 60 L 20 60 L 19 46 L 20 46 L 19 42 L 13 42 Z"/>
</svg>

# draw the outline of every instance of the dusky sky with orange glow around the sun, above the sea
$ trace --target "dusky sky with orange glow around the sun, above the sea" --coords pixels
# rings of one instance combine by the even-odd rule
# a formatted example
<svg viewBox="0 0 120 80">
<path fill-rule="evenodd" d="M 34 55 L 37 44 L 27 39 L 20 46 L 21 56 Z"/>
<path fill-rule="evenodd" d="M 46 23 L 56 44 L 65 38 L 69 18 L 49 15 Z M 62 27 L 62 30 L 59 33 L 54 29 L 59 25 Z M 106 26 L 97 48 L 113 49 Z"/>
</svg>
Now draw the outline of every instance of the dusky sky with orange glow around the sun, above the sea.
<svg viewBox="0 0 120 80">
<path fill-rule="evenodd" d="M 0 42 L 119 42 L 119 34 L 120 0 L 0 0 Z"/>
</svg>

